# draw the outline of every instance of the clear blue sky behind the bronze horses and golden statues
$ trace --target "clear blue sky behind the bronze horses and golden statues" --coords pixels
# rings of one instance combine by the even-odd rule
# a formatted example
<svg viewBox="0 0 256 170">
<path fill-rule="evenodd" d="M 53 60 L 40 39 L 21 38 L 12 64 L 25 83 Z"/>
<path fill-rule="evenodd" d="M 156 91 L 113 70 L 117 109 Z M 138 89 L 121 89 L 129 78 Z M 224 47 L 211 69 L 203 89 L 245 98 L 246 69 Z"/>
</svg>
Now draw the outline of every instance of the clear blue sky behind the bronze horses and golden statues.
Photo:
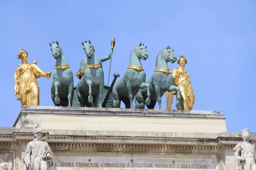
<svg viewBox="0 0 256 170">
<path fill-rule="evenodd" d="M 2 0 L 0 126 L 12 126 L 20 112 L 13 74 L 21 63 L 21 48 L 28 51 L 29 62 L 36 60 L 48 72 L 55 66 L 49 42 L 58 40 L 75 74 L 86 58 L 81 41 L 90 40 L 96 56 L 104 57 L 115 37 L 110 82 L 114 72 L 124 75 L 131 51 L 140 42 L 149 54 L 142 61 L 147 79 L 159 51 L 170 45 L 176 57 L 188 60 L 185 70 L 196 96 L 193 110 L 220 111 L 228 131 L 249 128 L 256 133 L 255 8 L 253 0 Z M 177 62 L 169 67 L 177 68 Z M 105 84 L 108 68 L 109 61 L 103 62 Z M 74 77 L 74 85 L 78 80 Z M 38 79 L 40 105 L 53 106 L 51 82 Z M 165 95 L 162 103 L 165 109 Z"/>
</svg>

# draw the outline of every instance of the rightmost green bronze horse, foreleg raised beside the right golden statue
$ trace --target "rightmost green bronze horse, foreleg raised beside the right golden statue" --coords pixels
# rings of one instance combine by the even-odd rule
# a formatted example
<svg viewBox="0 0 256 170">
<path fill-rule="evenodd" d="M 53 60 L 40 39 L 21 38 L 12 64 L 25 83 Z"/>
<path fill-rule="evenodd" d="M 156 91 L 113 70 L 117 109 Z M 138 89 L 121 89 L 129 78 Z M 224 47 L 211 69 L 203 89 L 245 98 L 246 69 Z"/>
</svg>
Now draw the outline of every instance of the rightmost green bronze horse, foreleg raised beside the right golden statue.
<svg viewBox="0 0 256 170">
<path fill-rule="evenodd" d="M 150 104 L 146 103 L 148 109 L 154 109 L 156 103 L 159 104 L 159 109 L 162 109 L 161 97 L 166 91 L 176 91 L 177 102 L 175 104 L 176 108 L 180 107 L 180 89 L 173 85 L 173 77 L 167 62 L 174 63 L 177 61 L 173 50 L 168 46 L 163 48 L 156 59 L 156 69 L 150 79 L 146 81 L 149 85 L 150 91 Z M 166 72 L 164 72 L 166 71 Z M 145 89 L 140 89 L 135 96 L 135 108 L 145 108 L 145 99 L 147 97 L 147 91 Z"/>
</svg>

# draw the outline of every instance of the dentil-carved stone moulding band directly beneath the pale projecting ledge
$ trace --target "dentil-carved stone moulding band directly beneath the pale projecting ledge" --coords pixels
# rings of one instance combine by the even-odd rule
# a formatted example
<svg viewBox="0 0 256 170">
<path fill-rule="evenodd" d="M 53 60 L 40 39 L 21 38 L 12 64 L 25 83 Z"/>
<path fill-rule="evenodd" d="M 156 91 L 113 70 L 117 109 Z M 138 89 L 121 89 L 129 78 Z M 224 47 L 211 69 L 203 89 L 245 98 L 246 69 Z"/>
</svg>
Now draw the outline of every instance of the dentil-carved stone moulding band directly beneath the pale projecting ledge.
<svg viewBox="0 0 256 170">
<path fill-rule="evenodd" d="M 239 135 L 240 136 L 240 135 Z M 47 142 L 76 142 L 76 143 L 131 143 L 131 144 L 171 144 L 171 145 L 230 145 L 234 146 L 242 141 L 241 137 L 211 138 L 181 138 L 181 137 L 147 137 L 147 136 L 74 136 L 52 135 L 44 133 L 43 139 Z M 0 134 L 0 142 L 32 141 L 32 133 L 14 132 Z M 250 140 L 256 144 L 256 140 Z"/>
</svg>

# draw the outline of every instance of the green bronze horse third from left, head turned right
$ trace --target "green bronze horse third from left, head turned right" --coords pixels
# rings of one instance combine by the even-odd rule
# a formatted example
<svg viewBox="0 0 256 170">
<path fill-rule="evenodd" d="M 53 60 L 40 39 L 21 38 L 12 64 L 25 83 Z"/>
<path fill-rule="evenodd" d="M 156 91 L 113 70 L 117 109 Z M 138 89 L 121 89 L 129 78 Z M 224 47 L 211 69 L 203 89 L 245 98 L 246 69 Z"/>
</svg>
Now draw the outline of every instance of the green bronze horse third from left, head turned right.
<svg viewBox="0 0 256 170">
<path fill-rule="evenodd" d="M 140 42 L 134 47 L 130 56 L 130 64 L 125 71 L 124 77 L 119 79 L 113 86 L 113 98 L 116 101 L 116 108 L 120 108 L 120 101 L 125 103 L 125 108 L 134 108 L 133 99 L 139 89 L 147 90 L 145 103 L 150 103 L 150 93 L 146 81 L 146 73 L 141 65 L 140 59 L 148 59 L 147 46 Z"/>
</svg>

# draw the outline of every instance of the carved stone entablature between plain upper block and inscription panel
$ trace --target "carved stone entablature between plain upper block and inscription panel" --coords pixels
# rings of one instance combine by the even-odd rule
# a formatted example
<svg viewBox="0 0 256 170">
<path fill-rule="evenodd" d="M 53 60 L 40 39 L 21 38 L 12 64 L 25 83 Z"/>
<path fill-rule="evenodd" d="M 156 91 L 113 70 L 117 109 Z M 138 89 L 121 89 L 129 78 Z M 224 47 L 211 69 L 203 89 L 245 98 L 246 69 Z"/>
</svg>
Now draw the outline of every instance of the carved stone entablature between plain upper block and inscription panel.
<svg viewBox="0 0 256 170">
<path fill-rule="evenodd" d="M 32 141 L 33 128 L 0 128 L 0 153 L 12 153 L 15 170 L 21 168 L 24 148 Z M 123 131 L 44 130 L 44 139 L 54 155 L 93 156 L 99 153 L 137 156 L 216 156 L 219 170 L 225 167 L 225 152 L 242 141 L 241 133 L 154 133 Z M 72 135 L 73 134 L 73 135 Z M 125 135 L 126 134 L 126 135 Z M 157 137 L 154 137 L 157 136 Z M 185 137 L 185 136 L 189 136 Z M 251 134 L 256 144 L 256 133 Z M 233 153 L 233 152 L 231 152 Z M 221 168 L 222 167 L 222 168 Z M 228 169 L 227 169 L 228 170 Z"/>
</svg>

